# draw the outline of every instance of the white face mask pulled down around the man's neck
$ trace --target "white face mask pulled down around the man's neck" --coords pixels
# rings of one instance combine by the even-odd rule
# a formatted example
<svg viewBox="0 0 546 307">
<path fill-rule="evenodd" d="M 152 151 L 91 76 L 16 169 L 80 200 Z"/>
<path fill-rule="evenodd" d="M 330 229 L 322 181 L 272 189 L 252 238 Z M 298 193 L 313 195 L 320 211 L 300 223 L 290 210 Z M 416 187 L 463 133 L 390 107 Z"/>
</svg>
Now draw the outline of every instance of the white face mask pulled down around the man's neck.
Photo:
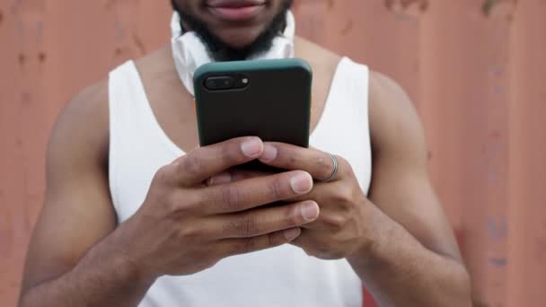
<svg viewBox="0 0 546 307">
<path fill-rule="evenodd" d="M 172 14 L 172 57 L 174 66 L 182 83 L 191 95 L 193 92 L 193 75 L 199 66 L 213 62 L 208 55 L 205 44 L 199 39 L 194 31 L 188 31 L 182 34 L 181 16 L 179 13 Z M 259 55 L 252 56 L 249 59 L 270 59 L 270 58 L 288 58 L 294 57 L 294 36 L 295 19 L 291 12 L 286 13 L 285 31 L 273 39 L 271 48 Z"/>
</svg>

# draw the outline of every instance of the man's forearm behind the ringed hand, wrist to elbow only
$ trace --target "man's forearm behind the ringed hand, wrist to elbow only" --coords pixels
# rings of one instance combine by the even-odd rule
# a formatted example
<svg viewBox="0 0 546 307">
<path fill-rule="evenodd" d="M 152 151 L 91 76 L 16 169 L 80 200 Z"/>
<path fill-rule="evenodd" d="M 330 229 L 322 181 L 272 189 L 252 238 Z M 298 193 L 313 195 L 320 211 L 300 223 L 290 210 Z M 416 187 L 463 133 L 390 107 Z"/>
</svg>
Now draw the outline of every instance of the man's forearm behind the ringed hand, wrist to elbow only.
<svg viewBox="0 0 546 307">
<path fill-rule="evenodd" d="M 374 224 L 381 229 L 373 246 L 348 260 L 381 306 L 471 306 L 460 262 L 427 250 L 383 213 Z"/>
</svg>

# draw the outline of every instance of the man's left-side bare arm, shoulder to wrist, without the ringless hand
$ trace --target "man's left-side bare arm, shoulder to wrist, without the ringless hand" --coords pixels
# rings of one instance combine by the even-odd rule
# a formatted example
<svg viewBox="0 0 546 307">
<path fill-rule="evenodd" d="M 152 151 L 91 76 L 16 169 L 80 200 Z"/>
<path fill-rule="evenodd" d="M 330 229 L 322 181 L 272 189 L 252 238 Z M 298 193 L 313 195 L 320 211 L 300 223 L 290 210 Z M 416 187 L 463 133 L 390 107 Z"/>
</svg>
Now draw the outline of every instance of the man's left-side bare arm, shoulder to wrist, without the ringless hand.
<svg viewBox="0 0 546 307">
<path fill-rule="evenodd" d="M 120 253 L 110 252 L 108 239 L 92 249 L 116 226 L 108 189 L 108 127 L 106 82 L 78 94 L 57 120 L 20 306 L 85 306 L 96 300 L 122 306 L 145 293 L 146 285 L 137 284 Z"/>
</svg>

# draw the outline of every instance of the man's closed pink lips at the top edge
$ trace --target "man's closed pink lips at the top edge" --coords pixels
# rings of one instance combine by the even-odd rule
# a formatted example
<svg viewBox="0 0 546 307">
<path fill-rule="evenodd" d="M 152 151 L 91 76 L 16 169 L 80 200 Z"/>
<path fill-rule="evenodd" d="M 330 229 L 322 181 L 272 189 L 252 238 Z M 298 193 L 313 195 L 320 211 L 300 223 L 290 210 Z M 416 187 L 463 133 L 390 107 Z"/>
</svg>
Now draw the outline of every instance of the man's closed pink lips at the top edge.
<svg viewBox="0 0 546 307">
<path fill-rule="evenodd" d="M 245 22 L 256 17 L 266 7 L 266 0 L 208 0 L 206 7 L 225 22 Z"/>
</svg>

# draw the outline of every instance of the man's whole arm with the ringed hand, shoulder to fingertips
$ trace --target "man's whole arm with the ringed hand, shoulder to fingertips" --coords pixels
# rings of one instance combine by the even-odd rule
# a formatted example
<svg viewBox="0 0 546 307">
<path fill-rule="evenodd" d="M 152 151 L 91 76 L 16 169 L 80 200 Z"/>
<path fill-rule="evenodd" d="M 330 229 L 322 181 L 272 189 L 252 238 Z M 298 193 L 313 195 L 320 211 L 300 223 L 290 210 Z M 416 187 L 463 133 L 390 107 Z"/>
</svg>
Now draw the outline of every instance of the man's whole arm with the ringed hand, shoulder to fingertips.
<svg viewBox="0 0 546 307">
<path fill-rule="evenodd" d="M 382 306 L 470 306 L 470 277 L 454 233 L 430 185 L 427 148 L 417 113 L 391 80 L 373 75 L 370 127 L 373 180 L 365 197 L 350 164 L 329 153 L 282 143 L 264 144 L 260 162 L 307 171 L 317 182 L 309 194 L 321 206 L 292 243 L 319 259 L 348 259 Z M 217 179 L 260 174 L 232 170 Z M 229 181 L 228 180 L 228 181 Z M 216 183 L 216 180 L 213 180 Z"/>
</svg>

